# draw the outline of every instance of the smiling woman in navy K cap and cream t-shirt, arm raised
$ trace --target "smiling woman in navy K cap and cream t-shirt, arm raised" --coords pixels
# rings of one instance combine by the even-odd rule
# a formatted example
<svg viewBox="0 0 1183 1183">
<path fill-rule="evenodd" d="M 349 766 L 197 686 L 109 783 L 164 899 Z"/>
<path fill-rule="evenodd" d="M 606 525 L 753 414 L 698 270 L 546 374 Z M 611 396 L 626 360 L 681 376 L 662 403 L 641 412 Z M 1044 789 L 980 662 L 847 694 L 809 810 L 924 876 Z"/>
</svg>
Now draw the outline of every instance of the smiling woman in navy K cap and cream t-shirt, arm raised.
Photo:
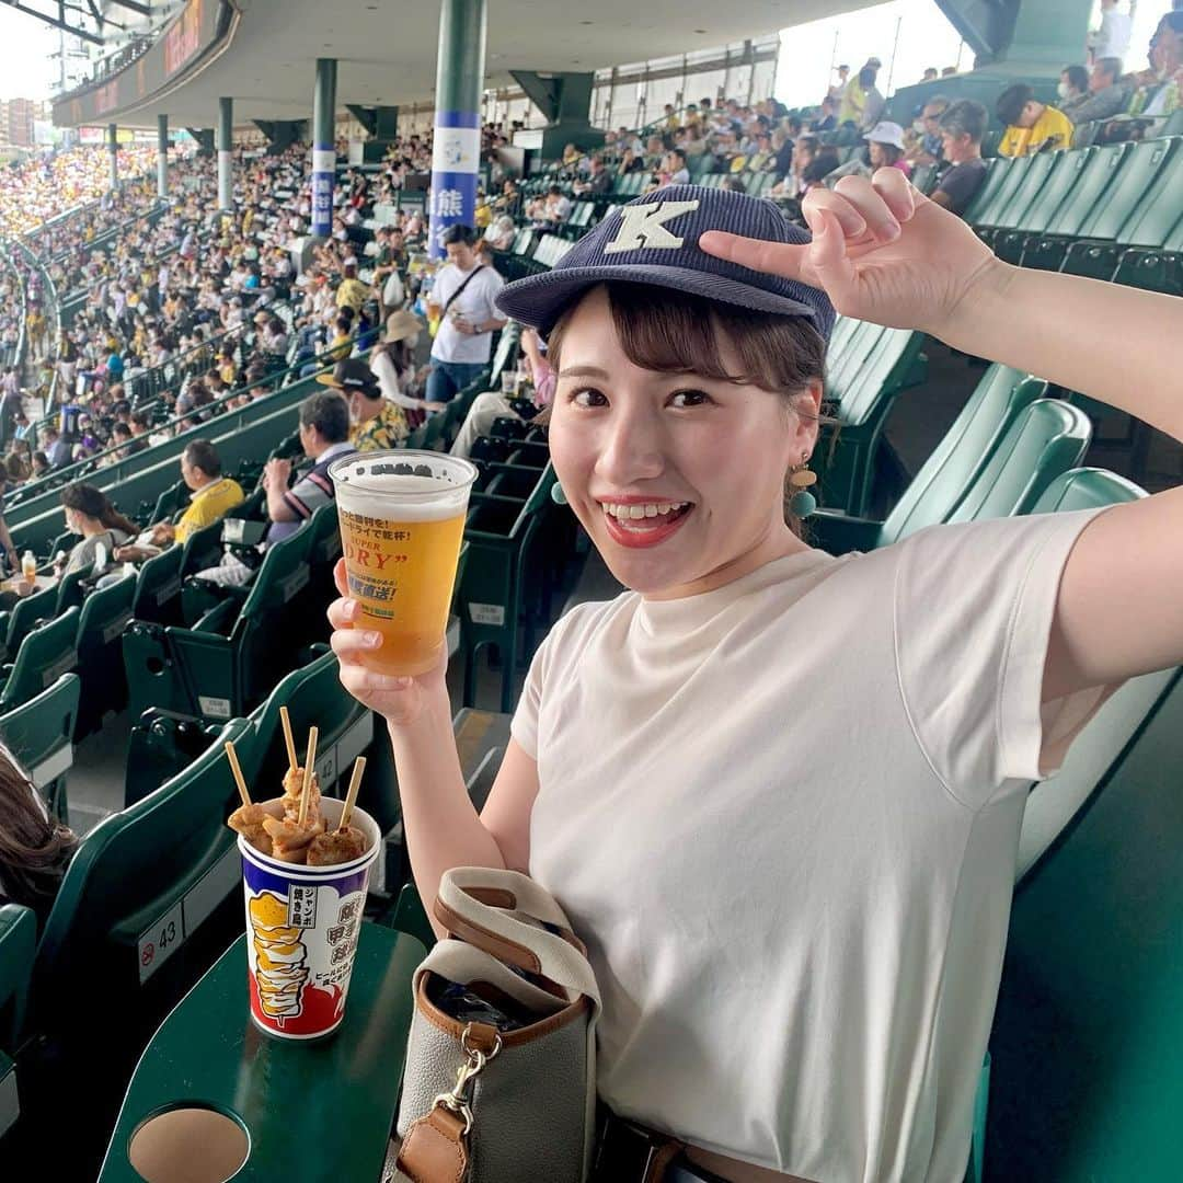
<svg viewBox="0 0 1183 1183">
<path fill-rule="evenodd" d="M 961 1179 L 1030 784 L 1183 662 L 1181 487 L 841 556 L 793 517 L 835 309 L 1183 440 L 1183 300 L 1002 263 L 897 168 L 802 207 L 812 237 L 672 186 L 502 293 L 548 341 L 555 473 L 628 590 L 551 629 L 479 814 L 446 658 L 368 667 L 337 568 L 332 647 L 386 718 L 421 898 L 515 868 L 587 945 L 614 1183 L 674 1156 L 679 1181 Z"/>
</svg>

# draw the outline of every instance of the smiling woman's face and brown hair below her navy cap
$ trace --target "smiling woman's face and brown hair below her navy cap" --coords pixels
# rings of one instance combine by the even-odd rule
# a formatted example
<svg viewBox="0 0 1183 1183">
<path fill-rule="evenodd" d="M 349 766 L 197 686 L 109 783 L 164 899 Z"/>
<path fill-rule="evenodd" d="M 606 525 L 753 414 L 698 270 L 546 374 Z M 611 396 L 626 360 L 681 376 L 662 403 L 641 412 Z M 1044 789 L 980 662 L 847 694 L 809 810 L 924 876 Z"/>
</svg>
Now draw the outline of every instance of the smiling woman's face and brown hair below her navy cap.
<svg viewBox="0 0 1183 1183">
<path fill-rule="evenodd" d="M 796 549 L 782 492 L 814 446 L 826 356 L 809 321 L 618 282 L 549 350 L 551 454 L 616 578 L 674 599 Z"/>
</svg>

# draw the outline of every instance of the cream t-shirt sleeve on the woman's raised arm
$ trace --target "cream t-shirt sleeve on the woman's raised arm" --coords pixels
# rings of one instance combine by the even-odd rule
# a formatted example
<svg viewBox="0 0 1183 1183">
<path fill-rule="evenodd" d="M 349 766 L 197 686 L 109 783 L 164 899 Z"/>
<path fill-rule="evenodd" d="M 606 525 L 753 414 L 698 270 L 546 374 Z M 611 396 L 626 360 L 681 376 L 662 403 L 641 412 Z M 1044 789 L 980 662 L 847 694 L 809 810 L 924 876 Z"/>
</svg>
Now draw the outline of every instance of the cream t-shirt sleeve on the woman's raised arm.
<svg viewBox="0 0 1183 1183">
<path fill-rule="evenodd" d="M 1060 576 L 1100 509 L 932 526 L 899 543 L 899 690 L 925 758 L 963 804 L 1046 778 L 1112 686 L 1042 704 Z M 1041 755 L 1055 767 L 1040 769 Z"/>
</svg>

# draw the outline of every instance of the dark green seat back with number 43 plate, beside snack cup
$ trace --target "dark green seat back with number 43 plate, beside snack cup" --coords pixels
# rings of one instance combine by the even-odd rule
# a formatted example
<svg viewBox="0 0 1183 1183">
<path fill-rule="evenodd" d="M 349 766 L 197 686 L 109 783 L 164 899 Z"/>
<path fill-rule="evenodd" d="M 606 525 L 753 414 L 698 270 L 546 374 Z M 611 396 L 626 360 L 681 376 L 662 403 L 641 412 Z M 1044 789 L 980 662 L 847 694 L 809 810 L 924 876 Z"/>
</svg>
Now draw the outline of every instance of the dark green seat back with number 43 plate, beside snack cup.
<svg viewBox="0 0 1183 1183">
<path fill-rule="evenodd" d="M 63 879 L 33 965 L 21 1061 L 26 1116 L 38 1138 L 58 1136 L 60 1178 L 93 1177 L 75 1156 L 97 1161 L 148 1036 L 243 930 L 226 827 L 238 793 L 222 742 L 250 728 L 232 720 L 179 776 L 101 821 Z"/>
</svg>

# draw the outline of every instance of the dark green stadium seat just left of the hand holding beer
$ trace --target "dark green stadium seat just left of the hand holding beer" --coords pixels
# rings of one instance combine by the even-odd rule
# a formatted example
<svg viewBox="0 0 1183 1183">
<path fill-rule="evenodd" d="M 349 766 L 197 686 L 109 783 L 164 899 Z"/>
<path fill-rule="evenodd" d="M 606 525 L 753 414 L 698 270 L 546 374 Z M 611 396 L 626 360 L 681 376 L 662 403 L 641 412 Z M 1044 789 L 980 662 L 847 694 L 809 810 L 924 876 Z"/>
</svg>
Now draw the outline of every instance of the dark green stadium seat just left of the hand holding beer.
<svg viewBox="0 0 1183 1183">
<path fill-rule="evenodd" d="M 269 547 L 241 607 L 237 597 L 224 600 L 192 628 L 135 620 L 123 638 L 134 716 L 160 706 L 219 720 L 261 702 L 297 659 L 286 639 L 311 577 L 311 543 L 304 526 Z"/>
</svg>

